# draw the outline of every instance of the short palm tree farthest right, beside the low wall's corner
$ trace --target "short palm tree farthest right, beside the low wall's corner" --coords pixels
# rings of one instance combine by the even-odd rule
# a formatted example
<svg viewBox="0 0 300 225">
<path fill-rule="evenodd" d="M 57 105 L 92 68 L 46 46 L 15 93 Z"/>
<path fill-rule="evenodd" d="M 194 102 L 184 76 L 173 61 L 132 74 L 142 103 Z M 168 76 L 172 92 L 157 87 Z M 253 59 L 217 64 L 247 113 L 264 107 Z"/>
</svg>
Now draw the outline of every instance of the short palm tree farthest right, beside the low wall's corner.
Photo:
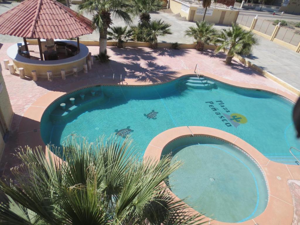
<svg viewBox="0 0 300 225">
<path fill-rule="evenodd" d="M 216 52 L 226 51 L 225 63 L 230 64 L 235 54 L 250 55 L 253 46 L 258 45 L 259 40 L 251 31 L 242 29 L 238 24 L 232 23 L 232 29 L 222 29 L 215 37 L 214 44 L 219 45 Z"/>
</svg>

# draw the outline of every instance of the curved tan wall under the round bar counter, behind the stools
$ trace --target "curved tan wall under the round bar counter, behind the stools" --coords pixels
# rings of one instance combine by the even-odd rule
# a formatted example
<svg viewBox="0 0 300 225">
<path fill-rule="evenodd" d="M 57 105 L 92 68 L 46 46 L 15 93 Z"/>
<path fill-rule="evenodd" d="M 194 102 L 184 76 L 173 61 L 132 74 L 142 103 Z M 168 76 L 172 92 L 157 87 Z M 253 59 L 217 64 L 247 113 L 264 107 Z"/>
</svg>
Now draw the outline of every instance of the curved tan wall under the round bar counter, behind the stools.
<svg viewBox="0 0 300 225">
<path fill-rule="evenodd" d="M 86 63 L 86 58 L 83 58 L 79 61 L 72 62 L 69 64 L 64 65 L 31 65 L 31 64 L 24 64 L 18 61 L 13 61 L 13 64 L 16 69 L 16 73 L 19 73 L 18 68 L 23 67 L 25 70 L 26 76 L 31 76 L 31 71 L 36 70 L 38 77 L 47 77 L 47 71 L 52 71 L 52 76 L 61 76 L 61 69 L 64 69 L 66 75 L 73 74 L 73 66 L 77 67 L 77 71 L 83 70 L 83 64 Z"/>
</svg>

